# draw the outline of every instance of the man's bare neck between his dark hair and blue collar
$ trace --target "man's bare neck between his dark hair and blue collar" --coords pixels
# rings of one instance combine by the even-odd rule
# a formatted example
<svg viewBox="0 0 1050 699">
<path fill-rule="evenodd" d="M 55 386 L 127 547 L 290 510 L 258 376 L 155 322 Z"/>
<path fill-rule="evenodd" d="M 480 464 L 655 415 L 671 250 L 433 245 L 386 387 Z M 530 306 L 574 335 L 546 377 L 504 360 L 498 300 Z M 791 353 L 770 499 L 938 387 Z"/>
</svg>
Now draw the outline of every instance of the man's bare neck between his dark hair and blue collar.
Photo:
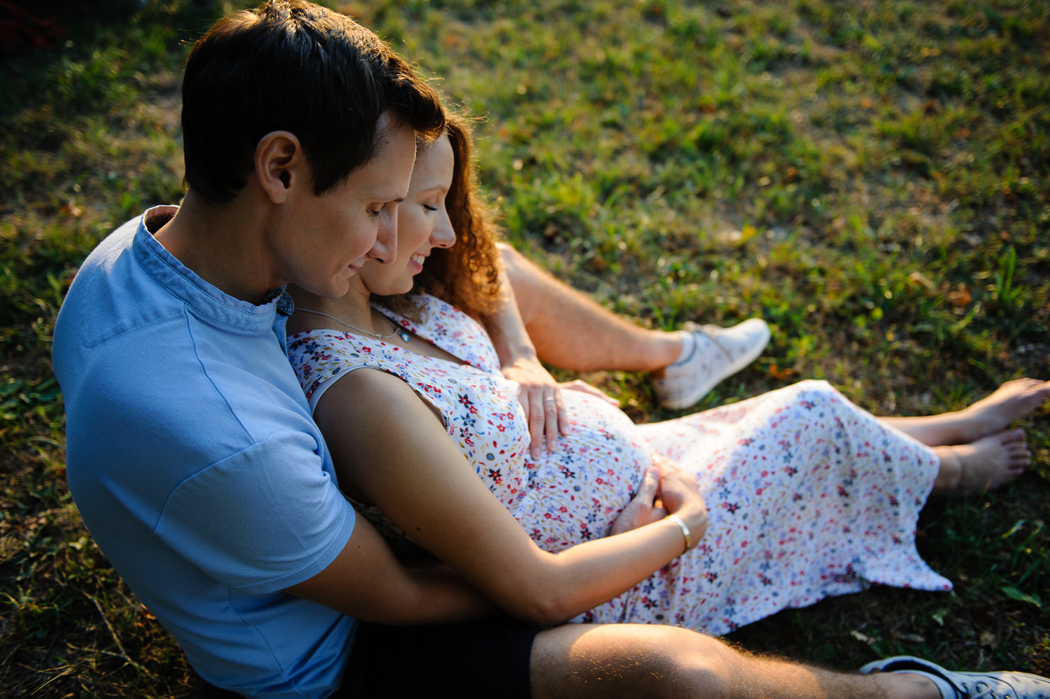
<svg viewBox="0 0 1050 699">
<path fill-rule="evenodd" d="M 205 282 L 234 299 L 261 304 L 284 285 L 264 252 L 266 215 L 242 191 L 229 204 L 205 203 L 189 191 L 172 217 L 154 233 L 168 252 Z"/>
</svg>

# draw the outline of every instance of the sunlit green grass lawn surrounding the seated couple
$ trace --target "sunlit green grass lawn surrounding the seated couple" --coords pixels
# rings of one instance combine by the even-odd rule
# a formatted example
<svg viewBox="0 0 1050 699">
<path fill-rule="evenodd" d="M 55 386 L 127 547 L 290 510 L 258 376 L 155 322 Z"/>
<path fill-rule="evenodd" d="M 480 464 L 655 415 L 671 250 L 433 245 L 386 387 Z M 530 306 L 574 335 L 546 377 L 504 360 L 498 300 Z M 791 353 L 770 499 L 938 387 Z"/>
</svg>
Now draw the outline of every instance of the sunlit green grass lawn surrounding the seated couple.
<svg viewBox="0 0 1050 699">
<path fill-rule="evenodd" d="M 231 6 L 41 0 L 0 47 L 0 696 L 194 696 L 69 498 L 49 352 L 86 253 L 180 199 L 182 62 Z M 1050 377 L 1050 2 L 336 6 L 486 117 L 482 179 L 530 258 L 654 327 L 770 322 L 698 408 L 816 377 L 926 414 Z M 677 414 L 644 376 L 587 378 L 636 419 Z M 920 520 L 953 592 L 869 590 L 731 639 L 1050 674 L 1050 411 L 1023 426 L 1028 473 Z"/>
</svg>

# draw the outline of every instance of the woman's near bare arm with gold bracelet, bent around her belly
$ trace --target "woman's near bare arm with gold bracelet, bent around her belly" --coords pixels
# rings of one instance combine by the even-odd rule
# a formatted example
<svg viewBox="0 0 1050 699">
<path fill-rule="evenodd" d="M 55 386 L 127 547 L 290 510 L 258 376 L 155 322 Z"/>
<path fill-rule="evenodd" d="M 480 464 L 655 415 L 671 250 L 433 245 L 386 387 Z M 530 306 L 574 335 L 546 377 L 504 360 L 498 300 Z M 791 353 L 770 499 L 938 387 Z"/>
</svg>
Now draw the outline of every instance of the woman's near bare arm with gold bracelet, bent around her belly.
<svg viewBox="0 0 1050 699">
<path fill-rule="evenodd" d="M 315 418 L 340 487 L 379 507 L 507 613 L 549 625 L 629 590 L 684 551 L 663 519 L 553 554 L 540 549 L 453 444 L 435 412 L 396 376 L 362 369 L 320 398 Z M 682 481 L 685 482 L 685 481 Z M 695 487 L 662 493 L 694 541 L 707 513 Z"/>
</svg>

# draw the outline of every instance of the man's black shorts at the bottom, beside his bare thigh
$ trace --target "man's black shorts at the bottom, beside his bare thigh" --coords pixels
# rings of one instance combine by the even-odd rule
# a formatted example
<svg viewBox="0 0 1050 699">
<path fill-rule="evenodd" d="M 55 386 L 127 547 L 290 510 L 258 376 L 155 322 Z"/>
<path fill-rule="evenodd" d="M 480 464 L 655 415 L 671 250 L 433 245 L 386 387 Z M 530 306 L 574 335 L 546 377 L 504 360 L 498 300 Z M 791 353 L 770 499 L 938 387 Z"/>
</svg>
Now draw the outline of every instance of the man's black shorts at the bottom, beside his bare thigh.
<svg viewBox="0 0 1050 699">
<path fill-rule="evenodd" d="M 334 699 L 530 699 L 539 633 L 513 619 L 433 626 L 359 622 Z"/>
</svg>

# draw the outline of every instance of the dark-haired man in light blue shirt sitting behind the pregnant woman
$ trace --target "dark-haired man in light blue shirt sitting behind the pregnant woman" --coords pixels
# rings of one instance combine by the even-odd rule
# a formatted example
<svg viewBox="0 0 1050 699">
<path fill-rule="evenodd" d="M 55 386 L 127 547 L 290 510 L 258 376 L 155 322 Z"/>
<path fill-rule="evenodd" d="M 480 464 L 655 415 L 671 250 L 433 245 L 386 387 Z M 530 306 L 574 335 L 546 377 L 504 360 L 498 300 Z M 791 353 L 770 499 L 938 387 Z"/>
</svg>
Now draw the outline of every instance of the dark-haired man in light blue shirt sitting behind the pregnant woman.
<svg viewBox="0 0 1050 699">
<path fill-rule="evenodd" d="M 973 683 L 910 660 L 825 673 L 674 628 L 537 632 L 449 571 L 397 561 L 335 484 L 285 357 L 282 287 L 338 296 L 366 260 L 391 261 L 438 100 L 373 34 L 302 0 L 220 20 L 183 98 L 186 199 L 91 253 L 54 358 L 84 521 L 205 679 L 260 697 L 933 698 Z"/>
</svg>

